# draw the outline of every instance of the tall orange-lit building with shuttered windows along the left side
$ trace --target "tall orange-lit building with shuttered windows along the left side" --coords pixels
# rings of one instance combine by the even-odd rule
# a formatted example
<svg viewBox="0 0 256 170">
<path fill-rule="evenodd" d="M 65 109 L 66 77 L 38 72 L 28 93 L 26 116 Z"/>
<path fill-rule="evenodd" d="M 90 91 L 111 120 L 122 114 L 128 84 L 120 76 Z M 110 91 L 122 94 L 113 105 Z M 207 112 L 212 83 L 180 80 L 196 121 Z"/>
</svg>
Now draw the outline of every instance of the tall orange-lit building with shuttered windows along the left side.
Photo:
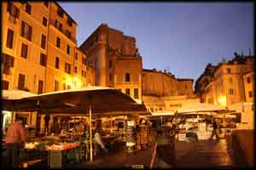
<svg viewBox="0 0 256 170">
<path fill-rule="evenodd" d="M 55 2 L 3 2 L 2 89 L 42 94 L 95 85 L 95 71 L 77 47 L 77 23 Z M 32 126 L 44 115 L 15 112 Z M 53 117 L 51 117 L 53 122 Z"/>
</svg>

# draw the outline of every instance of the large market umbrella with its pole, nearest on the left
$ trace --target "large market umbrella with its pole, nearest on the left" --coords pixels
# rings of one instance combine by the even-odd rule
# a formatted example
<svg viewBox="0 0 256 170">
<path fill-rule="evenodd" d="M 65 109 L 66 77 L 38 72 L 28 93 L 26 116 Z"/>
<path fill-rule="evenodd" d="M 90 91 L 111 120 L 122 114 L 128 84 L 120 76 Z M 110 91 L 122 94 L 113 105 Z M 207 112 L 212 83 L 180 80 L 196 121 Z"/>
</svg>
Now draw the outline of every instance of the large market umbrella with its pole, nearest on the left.
<svg viewBox="0 0 256 170">
<path fill-rule="evenodd" d="M 92 161 L 92 112 L 98 116 L 111 112 L 147 113 L 144 105 L 138 105 L 130 96 L 114 88 L 88 87 L 69 89 L 20 99 L 3 99 L 3 109 L 9 111 L 47 111 L 49 113 L 85 113 L 90 117 L 90 161 Z"/>
</svg>

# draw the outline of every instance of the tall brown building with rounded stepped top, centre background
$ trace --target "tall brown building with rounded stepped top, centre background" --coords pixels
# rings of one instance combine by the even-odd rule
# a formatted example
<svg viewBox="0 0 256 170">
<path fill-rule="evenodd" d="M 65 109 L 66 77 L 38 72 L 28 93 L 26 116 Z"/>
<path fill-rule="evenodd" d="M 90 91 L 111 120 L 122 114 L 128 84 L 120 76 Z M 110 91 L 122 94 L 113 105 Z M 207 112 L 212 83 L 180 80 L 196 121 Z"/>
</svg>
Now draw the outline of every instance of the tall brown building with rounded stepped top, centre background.
<svg viewBox="0 0 256 170">
<path fill-rule="evenodd" d="M 79 48 L 96 71 L 96 86 L 117 88 L 142 101 L 143 58 L 134 37 L 102 24 Z"/>
</svg>

